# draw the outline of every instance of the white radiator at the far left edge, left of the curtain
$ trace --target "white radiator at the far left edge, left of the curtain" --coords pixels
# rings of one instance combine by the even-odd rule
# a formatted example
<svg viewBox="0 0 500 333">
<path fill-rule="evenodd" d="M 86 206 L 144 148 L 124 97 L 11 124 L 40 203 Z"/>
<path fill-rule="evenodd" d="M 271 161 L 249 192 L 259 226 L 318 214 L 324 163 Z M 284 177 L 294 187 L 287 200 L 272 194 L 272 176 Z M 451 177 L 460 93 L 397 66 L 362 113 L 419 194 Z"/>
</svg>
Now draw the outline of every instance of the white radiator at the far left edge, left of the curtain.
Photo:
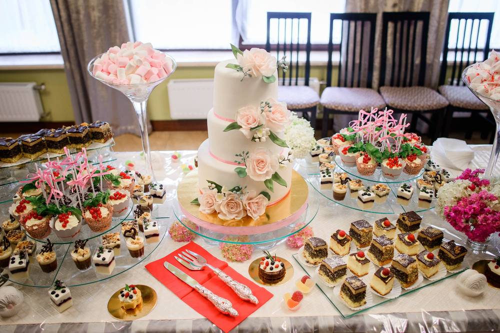
<svg viewBox="0 0 500 333">
<path fill-rule="evenodd" d="M 0 83 L 0 121 L 39 121 L 43 114 L 36 82 Z"/>
</svg>

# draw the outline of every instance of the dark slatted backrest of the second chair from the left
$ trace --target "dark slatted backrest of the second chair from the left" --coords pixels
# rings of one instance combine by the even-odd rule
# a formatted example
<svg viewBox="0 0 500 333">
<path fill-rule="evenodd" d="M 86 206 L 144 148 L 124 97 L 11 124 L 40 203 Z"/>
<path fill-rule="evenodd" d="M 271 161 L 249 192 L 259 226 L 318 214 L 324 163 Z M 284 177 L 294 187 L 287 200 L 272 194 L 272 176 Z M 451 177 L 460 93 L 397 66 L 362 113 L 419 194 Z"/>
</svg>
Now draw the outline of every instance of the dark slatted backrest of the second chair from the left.
<svg viewBox="0 0 500 333">
<path fill-rule="evenodd" d="M 330 13 L 326 86 L 332 85 L 333 35 L 337 32 L 334 23 L 338 21 L 340 21 L 340 61 L 337 86 L 371 88 L 375 13 Z"/>
</svg>

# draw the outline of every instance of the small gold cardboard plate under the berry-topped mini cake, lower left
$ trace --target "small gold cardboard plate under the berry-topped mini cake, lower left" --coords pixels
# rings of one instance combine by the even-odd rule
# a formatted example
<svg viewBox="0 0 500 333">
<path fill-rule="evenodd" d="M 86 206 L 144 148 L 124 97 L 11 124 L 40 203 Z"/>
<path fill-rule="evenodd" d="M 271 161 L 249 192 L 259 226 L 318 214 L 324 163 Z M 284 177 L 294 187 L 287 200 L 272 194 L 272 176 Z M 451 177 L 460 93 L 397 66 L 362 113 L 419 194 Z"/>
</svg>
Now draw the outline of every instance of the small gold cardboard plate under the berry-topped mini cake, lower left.
<svg viewBox="0 0 500 333">
<path fill-rule="evenodd" d="M 135 309 L 125 310 L 121 307 L 118 295 L 123 288 L 118 289 L 107 302 L 107 311 L 109 314 L 120 321 L 133 321 L 146 316 L 156 305 L 156 292 L 149 286 L 135 285 L 135 288 L 140 290 L 142 296 L 142 304 L 139 304 Z"/>
</svg>

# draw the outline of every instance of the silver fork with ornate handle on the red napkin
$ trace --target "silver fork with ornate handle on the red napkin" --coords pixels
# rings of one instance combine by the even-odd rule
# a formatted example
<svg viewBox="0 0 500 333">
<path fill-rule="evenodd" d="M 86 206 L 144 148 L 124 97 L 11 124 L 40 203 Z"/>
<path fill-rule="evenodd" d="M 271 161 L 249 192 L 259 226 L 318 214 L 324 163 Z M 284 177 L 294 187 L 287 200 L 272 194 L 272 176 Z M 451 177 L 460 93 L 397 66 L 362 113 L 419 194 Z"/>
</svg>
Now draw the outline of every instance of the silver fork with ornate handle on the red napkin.
<svg viewBox="0 0 500 333">
<path fill-rule="evenodd" d="M 178 253 L 177 255 L 180 258 L 174 257 L 175 260 L 192 271 L 201 271 L 204 267 L 208 267 L 220 280 L 222 280 L 222 282 L 229 286 L 229 288 L 231 288 L 240 299 L 253 304 L 258 304 L 258 300 L 252 294 L 250 288 L 237 281 L 234 281 L 230 276 L 228 276 L 218 268 L 208 264 L 206 262 L 206 259 L 201 257 L 200 255 L 189 250 L 186 250 L 186 252 L 182 251 L 181 253 Z"/>
</svg>

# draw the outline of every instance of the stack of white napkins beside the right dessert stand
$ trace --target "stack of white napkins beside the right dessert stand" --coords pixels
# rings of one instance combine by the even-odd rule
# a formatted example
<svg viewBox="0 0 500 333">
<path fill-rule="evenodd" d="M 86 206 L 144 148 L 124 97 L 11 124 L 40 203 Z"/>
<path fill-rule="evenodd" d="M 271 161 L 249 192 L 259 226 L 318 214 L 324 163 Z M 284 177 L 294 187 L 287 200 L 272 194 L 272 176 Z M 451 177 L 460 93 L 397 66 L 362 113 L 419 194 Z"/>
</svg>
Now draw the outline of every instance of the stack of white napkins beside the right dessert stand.
<svg viewBox="0 0 500 333">
<path fill-rule="evenodd" d="M 474 158 L 474 151 L 463 140 L 438 138 L 430 155 L 443 168 L 464 170 Z"/>
</svg>

